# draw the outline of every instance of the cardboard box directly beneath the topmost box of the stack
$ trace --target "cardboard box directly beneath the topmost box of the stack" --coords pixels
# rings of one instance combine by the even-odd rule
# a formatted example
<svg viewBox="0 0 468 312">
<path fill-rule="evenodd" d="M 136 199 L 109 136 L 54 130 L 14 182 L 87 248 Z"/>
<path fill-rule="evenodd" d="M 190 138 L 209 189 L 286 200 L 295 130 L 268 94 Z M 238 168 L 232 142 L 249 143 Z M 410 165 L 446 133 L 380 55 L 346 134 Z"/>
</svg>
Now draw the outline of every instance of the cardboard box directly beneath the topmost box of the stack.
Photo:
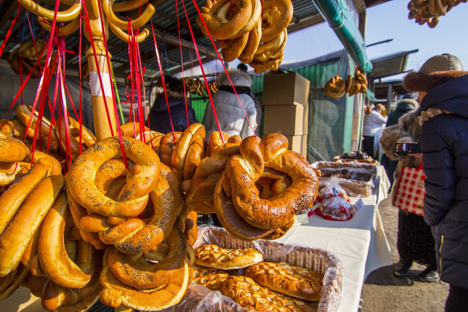
<svg viewBox="0 0 468 312">
<path fill-rule="evenodd" d="M 281 133 L 283 135 L 301 135 L 304 119 L 304 106 L 294 105 L 265 106 L 263 112 L 263 133 Z"/>
</svg>

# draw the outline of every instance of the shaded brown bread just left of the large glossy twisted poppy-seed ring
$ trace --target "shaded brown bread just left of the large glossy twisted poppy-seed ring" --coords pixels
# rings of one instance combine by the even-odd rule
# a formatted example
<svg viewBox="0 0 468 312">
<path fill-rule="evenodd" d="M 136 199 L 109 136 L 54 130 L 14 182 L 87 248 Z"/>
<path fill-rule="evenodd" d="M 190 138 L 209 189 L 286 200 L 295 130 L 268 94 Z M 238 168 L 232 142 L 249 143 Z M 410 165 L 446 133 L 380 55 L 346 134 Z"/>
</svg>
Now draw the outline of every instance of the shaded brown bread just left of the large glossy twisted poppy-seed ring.
<svg viewBox="0 0 468 312">
<path fill-rule="evenodd" d="M 213 202 L 214 186 L 219 175 L 226 167 L 229 157 L 238 153 L 239 144 L 225 143 L 219 146 L 212 153 L 212 156 L 205 157 L 200 161 L 190 181 L 189 191 L 185 194 L 185 204 L 190 210 L 200 213 L 215 212 Z"/>
</svg>

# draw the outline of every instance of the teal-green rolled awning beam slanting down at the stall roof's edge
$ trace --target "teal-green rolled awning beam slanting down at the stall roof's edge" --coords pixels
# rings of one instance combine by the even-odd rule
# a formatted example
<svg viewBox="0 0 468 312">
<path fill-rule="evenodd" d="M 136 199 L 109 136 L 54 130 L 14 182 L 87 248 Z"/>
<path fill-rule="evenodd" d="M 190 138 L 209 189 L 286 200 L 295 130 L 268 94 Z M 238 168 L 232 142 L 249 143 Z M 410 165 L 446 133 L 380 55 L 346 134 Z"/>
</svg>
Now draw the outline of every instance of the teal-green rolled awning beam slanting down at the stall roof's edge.
<svg viewBox="0 0 468 312">
<path fill-rule="evenodd" d="M 366 42 L 359 32 L 344 0 L 312 0 L 330 27 L 335 31 L 356 65 L 365 73 L 372 71 L 366 54 Z"/>
</svg>

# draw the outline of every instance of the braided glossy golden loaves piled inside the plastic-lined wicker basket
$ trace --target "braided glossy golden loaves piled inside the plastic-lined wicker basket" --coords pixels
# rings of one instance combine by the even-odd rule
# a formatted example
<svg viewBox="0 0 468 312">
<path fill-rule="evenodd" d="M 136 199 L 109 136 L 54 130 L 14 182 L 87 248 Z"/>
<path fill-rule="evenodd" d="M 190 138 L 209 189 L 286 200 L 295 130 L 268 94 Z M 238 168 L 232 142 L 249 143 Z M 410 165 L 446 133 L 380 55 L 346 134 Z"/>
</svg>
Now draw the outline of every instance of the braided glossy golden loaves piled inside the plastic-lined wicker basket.
<svg viewBox="0 0 468 312">
<path fill-rule="evenodd" d="M 220 291 L 248 310 L 312 312 L 303 300 L 320 299 L 323 274 L 285 262 L 262 261 L 263 254 L 253 248 L 202 245 L 195 250 L 192 282 Z M 247 268 L 244 276 L 237 275 L 243 271 L 240 268 Z"/>
</svg>

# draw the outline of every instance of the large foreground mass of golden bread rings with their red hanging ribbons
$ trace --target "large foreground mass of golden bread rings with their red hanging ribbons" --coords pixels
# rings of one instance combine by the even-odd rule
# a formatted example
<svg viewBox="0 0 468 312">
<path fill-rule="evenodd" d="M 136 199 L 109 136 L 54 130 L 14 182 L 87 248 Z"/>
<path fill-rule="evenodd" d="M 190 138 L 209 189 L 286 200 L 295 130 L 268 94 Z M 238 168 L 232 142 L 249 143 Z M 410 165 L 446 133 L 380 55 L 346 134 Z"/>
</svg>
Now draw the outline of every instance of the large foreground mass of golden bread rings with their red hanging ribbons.
<svg viewBox="0 0 468 312">
<path fill-rule="evenodd" d="M 202 15 L 192 2 L 203 21 L 201 16 L 207 13 Z M 129 23 L 130 121 L 124 123 L 122 110 L 122 124 L 119 120 L 117 87 L 109 75 L 112 103 L 105 107 L 112 136 L 96 141 L 83 126 L 81 96 L 75 108 L 66 88 L 65 40 L 54 31 L 59 27 L 57 1 L 51 36 L 42 49 L 33 42 L 37 59 L 6 118 L 39 68 L 36 98 L 32 105 L 15 108 L 18 119 L 0 122 L 0 300 L 23 285 L 50 311 L 87 311 L 98 299 L 114 308 L 161 310 L 179 302 L 192 279 L 197 212 L 216 213 L 237 238 L 276 239 L 289 230 L 296 213 L 313 204 L 318 190 L 316 174 L 304 157 L 287 149 L 283 135 L 242 140 L 221 131 L 212 102 L 213 88 L 206 87 L 193 30 L 184 1 L 181 3 L 219 131 L 206 138 L 204 126 L 190 125 L 188 120 L 182 132 L 172 127 L 170 133 L 159 133 L 149 123 L 145 126 L 144 66 L 137 31 Z M 232 3 L 238 16 L 238 2 Z M 83 6 L 80 35 L 89 29 L 86 3 Z M 272 8 L 271 14 L 278 15 L 273 13 L 276 10 Z M 178 16 L 177 2 L 176 12 Z M 232 20 L 229 13 L 227 16 Z M 212 24 L 202 24 L 209 35 Z M 152 23 L 151 27 L 154 35 Z M 180 33 L 179 23 L 178 28 Z M 275 38 L 285 30 L 276 35 L 265 33 Z M 153 40 L 167 101 L 155 36 Z M 91 47 L 96 58 L 94 44 Z M 108 53 L 105 34 L 104 49 Z M 219 53 L 218 57 L 222 59 Z M 80 54 L 78 58 L 81 64 Z M 252 62 L 257 68 L 270 66 L 256 65 L 263 62 L 258 59 Z M 110 62 L 105 66 L 112 73 Z M 55 92 L 49 98 L 53 74 Z M 106 78 L 98 72 L 98 79 L 104 89 Z M 108 105 L 114 107 L 114 116 Z M 44 117 L 47 107 L 51 120 Z M 57 119 L 52 113 L 56 108 Z M 169 106 L 168 110 L 170 115 Z M 117 133 L 111 119 L 116 119 Z"/>
</svg>

